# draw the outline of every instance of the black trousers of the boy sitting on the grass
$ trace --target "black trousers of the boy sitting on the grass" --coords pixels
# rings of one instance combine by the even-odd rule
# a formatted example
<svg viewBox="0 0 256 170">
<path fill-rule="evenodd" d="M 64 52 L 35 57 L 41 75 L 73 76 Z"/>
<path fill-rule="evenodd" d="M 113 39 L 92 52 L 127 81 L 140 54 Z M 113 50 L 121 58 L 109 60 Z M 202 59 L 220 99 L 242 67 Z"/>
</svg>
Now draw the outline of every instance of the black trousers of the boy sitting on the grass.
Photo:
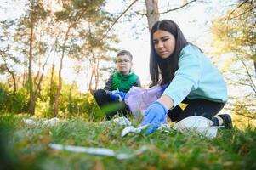
<svg viewBox="0 0 256 170">
<path fill-rule="evenodd" d="M 100 106 L 101 111 L 105 113 L 106 120 L 110 120 L 113 116 L 120 113 L 120 116 L 128 115 L 128 105 L 124 102 L 114 101 L 104 89 L 98 89 L 94 93 L 94 99 Z"/>
</svg>

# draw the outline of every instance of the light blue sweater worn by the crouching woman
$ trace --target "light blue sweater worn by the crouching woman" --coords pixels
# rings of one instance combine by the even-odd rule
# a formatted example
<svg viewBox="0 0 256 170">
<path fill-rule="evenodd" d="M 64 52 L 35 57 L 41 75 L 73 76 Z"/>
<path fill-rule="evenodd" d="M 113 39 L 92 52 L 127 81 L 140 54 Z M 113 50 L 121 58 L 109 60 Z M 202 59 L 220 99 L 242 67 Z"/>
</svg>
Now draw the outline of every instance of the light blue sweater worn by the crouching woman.
<svg viewBox="0 0 256 170">
<path fill-rule="evenodd" d="M 227 88 L 219 70 L 195 46 L 189 44 L 180 52 L 178 70 L 163 95 L 174 100 L 174 107 L 186 97 L 226 102 Z"/>
</svg>

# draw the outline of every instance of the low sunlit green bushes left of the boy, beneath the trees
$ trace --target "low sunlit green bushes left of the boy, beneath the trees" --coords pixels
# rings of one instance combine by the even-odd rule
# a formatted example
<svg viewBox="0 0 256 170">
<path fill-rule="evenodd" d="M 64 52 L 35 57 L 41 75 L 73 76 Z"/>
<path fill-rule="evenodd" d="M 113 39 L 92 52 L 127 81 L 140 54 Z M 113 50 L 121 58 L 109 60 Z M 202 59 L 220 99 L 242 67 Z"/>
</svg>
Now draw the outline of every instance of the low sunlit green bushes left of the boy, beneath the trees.
<svg viewBox="0 0 256 170">
<path fill-rule="evenodd" d="M 47 82 L 47 81 L 46 81 Z M 49 107 L 49 84 L 43 83 L 41 94 L 37 98 L 36 116 L 38 118 L 53 117 Z M 56 87 L 54 88 L 56 91 Z M 2 113 L 27 113 L 28 95 L 25 88 L 20 88 L 15 94 L 4 84 L 0 83 L 0 112 Z M 64 83 L 62 94 L 60 96 L 60 114 L 59 117 L 72 119 L 75 117 L 84 120 L 101 120 L 103 113 L 95 103 L 94 97 L 89 93 L 81 93 L 77 87 Z"/>
</svg>

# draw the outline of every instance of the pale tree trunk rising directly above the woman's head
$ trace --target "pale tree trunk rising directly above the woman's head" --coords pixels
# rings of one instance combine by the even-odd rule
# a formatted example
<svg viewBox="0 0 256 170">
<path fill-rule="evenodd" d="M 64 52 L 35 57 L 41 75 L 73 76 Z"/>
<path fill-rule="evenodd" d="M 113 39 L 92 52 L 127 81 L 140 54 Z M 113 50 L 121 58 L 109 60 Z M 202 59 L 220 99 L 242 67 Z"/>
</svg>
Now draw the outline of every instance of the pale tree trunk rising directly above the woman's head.
<svg viewBox="0 0 256 170">
<path fill-rule="evenodd" d="M 156 21 L 159 20 L 158 0 L 145 0 L 146 18 L 148 20 L 149 31 Z"/>
</svg>

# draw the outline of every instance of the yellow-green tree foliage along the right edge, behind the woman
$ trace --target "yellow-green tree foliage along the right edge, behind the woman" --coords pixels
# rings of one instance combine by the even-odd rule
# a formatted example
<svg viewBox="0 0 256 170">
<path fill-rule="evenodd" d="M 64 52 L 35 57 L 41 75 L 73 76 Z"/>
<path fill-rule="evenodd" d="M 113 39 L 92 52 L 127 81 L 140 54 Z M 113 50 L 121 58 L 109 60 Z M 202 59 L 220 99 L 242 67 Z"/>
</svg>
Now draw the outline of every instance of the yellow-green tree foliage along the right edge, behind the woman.
<svg viewBox="0 0 256 170">
<path fill-rule="evenodd" d="M 255 7 L 255 1 L 237 1 L 224 16 L 213 20 L 212 26 L 213 47 L 218 48 L 215 54 L 226 58 L 225 78 L 231 88 L 243 91 L 242 98 L 241 94 L 230 94 L 230 99 L 234 98 L 230 100 L 230 110 L 252 118 L 255 117 L 256 97 Z"/>
</svg>

